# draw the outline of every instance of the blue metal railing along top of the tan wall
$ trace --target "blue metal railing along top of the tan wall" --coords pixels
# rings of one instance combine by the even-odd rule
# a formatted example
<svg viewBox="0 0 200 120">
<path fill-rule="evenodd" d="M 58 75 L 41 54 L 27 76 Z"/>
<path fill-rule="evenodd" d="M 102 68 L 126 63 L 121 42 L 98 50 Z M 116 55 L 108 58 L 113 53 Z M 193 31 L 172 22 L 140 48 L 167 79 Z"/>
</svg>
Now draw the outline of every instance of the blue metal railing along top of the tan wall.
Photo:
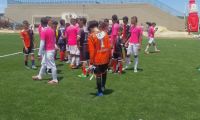
<svg viewBox="0 0 200 120">
<path fill-rule="evenodd" d="M 184 16 L 184 13 L 158 0 L 8 0 L 8 4 L 151 4 L 171 15 Z"/>
</svg>

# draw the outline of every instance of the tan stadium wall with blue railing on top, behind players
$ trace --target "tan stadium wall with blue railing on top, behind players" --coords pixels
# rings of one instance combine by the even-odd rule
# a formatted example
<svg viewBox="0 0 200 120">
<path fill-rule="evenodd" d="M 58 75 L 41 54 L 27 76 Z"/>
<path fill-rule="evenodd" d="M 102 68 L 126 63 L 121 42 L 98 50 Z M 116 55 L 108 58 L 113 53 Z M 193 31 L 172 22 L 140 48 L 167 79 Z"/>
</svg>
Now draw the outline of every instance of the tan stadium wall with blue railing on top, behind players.
<svg viewBox="0 0 200 120">
<path fill-rule="evenodd" d="M 88 20 L 111 19 L 113 14 L 119 18 L 136 15 L 139 23 L 156 22 L 170 30 L 183 31 L 184 20 L 177 16 L 183 13 L 159 0 L 8 0 L 5 16 L 21 23 L 28 20 L 37 26 L 43 16 L 60 19 L 63 15 L 86 16 Z M 68 21 L 68 20 L 67 20 Z"/>
</svg>

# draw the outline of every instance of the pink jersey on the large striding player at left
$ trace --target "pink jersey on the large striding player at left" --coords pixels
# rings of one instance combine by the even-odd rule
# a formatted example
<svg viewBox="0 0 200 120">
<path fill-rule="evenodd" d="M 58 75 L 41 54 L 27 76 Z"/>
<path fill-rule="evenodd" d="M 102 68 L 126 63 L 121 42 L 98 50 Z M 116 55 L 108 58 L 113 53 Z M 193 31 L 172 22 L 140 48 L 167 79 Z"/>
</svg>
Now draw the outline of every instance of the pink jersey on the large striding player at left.
<svg viewBox="0 0 200 120">
<path fill-rule="evenodd" d="M 46 27 L 41 31 L 41 40 L 45 41 L 45 51 L 55 50 L 56 38 L 52 28 Z"/>
</svg>

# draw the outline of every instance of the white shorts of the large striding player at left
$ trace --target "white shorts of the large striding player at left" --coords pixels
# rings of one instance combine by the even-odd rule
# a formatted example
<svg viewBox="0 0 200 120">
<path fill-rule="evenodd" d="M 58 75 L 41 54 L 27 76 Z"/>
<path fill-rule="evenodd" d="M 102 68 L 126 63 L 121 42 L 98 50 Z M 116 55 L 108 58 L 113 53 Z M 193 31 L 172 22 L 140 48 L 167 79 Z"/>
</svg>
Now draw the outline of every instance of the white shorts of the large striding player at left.
<svg viewBox="0 0 200 120">
<path fill-rule="evenodd" d="M 49 69 L 56 68 L 54 56 L 55 56 L 55 51 L 45 52 L 41 64 L 47 66 L 47 68 Z"/>
</svg>

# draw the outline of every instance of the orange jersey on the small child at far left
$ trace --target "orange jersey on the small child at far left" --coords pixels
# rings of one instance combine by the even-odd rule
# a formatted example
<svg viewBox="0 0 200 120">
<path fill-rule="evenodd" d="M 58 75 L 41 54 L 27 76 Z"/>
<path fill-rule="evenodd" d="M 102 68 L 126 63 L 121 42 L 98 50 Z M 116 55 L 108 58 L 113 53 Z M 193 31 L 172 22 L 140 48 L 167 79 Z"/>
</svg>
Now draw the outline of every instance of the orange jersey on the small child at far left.
<svg viewBox="0 0 200 120">
<path fill-rule="evenodd" d="M 20 32 L 20 35 L 21 35 L 21 37 L 22 37 L 22 39 L 23 39 L 23 41 L 24 41 L 25 47 L 26 47 L 26 48 L 29 48 L 30 45 L 31 45 L 31 40 L 30 40 L 30 36 L 29 36 L 28 31 L 22 30 L 22 31 Z"/>
</svg>

